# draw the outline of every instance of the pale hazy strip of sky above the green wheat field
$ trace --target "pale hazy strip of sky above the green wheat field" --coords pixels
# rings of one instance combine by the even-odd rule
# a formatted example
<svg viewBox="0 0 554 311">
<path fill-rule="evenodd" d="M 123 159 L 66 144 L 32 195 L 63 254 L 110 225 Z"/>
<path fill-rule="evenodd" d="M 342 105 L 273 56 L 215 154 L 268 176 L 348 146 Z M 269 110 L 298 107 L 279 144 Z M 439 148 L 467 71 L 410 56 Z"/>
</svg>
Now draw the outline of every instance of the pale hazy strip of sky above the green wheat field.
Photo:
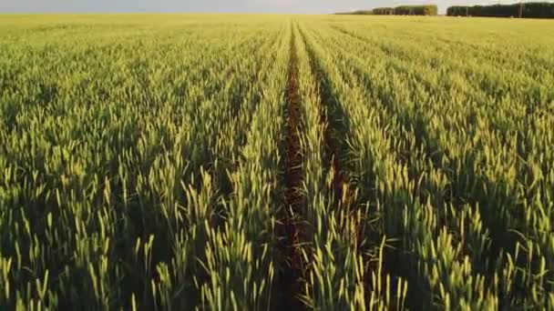
<svg viewBox="0 0 554 311">
<path fill-rule="evenodd" d="M 1 13 L 295 13 L 329 14 L 377 6 L 511 4 L 518 0 L 0 0 Z"/>
</svg>

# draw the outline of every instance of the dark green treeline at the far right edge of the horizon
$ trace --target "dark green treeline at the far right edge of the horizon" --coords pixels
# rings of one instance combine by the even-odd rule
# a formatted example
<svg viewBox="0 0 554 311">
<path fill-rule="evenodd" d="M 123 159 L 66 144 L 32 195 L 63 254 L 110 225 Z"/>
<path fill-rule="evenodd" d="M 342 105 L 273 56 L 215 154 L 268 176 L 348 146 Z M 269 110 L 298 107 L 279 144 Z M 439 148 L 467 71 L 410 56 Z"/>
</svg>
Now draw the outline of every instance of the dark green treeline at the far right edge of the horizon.
<svg viewBox="0 0 554 311">
<path fill-rule="evenodd" d="M 530 2 L 514 5 L 450 6 L 448 16 L 554 18 L 554 3 Z"/>
</svg>

